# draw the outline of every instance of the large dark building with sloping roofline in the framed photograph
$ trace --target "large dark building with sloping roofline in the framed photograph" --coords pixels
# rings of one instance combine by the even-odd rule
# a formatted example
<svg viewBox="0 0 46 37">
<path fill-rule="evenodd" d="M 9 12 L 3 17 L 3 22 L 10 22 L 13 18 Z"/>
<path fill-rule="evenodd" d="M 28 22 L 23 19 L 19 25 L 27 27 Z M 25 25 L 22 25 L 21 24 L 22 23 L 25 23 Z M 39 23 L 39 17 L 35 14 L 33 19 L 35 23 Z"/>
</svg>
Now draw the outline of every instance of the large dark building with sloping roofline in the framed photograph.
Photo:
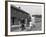
<svg viewBox="0 0 46 37">
<path fill-rule="evenodd" d="M 31 21 L 31 16 L 21 8 L 11 6 L 11 25 L 21 25 L 22 23 L 26 26 L 29 26 Z"/>
</svg>

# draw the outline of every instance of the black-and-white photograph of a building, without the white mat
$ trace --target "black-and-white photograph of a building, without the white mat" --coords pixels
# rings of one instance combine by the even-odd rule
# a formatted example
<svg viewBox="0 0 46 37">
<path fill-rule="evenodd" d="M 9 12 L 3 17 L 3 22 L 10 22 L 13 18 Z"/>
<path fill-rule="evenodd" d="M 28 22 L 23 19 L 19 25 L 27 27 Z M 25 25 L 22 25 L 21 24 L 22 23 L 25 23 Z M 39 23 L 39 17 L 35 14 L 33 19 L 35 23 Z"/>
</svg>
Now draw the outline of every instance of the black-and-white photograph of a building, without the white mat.
<svg viewBox="0 0 46 37">
<path fill-rule="evenodd" d="M 11 31 L 40 31 L 41 6 L 11 5 Z"/>
</svg>

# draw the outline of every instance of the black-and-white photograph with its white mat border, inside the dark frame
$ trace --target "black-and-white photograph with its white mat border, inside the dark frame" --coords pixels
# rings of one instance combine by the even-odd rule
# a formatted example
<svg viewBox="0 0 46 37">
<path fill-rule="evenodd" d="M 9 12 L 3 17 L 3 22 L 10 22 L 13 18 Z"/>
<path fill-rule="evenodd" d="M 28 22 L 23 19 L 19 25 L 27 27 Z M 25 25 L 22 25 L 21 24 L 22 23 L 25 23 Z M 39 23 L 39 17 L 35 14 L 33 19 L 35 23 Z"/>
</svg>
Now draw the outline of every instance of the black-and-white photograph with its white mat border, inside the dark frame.
<svg viewBox="0 0 46 37">
<path fill-rule="evenodd" d="M 8 35 L 44 33 L 44 3 L 8 2 Z"/>
</svg>

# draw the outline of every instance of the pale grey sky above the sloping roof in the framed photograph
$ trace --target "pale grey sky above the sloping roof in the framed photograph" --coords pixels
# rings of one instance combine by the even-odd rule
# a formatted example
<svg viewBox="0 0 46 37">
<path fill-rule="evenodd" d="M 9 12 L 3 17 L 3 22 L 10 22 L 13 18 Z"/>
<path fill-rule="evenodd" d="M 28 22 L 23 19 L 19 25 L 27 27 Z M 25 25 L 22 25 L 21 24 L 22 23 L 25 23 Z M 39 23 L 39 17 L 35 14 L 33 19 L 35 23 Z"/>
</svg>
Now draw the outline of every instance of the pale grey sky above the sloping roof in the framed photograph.
<svg viewBox="0 0 46 37">
<path fill-rule="evenodd" d="M 26 11 L 30 15 L 40 15 L 40 14 L 42 14 L 42 6 L 41 5 L 21 5 L 21 4 L 15 4 L 14 6 L 20 7 L 20 9 Z"/>
</svg>

